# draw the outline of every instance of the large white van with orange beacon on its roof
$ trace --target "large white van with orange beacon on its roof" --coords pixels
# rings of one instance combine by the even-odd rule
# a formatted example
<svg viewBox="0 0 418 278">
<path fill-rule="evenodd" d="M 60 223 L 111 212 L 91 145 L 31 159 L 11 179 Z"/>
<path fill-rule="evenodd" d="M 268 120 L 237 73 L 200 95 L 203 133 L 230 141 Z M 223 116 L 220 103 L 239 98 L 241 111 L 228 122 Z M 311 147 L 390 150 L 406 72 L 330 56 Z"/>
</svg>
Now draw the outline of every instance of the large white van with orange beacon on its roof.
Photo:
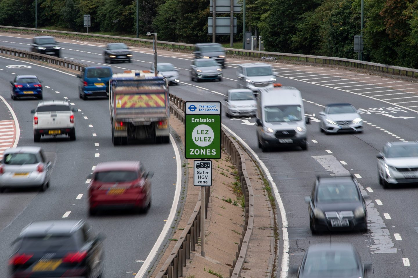
<svg viewBox="0 0 418 278">
<path fill-rule="evenodd" d="M 263 152 L 279 146 L 308 149 L 306 117 L 301 92 L 293 87 L 274 84 L 257 95 L 257 140 Z"/>
</svg>

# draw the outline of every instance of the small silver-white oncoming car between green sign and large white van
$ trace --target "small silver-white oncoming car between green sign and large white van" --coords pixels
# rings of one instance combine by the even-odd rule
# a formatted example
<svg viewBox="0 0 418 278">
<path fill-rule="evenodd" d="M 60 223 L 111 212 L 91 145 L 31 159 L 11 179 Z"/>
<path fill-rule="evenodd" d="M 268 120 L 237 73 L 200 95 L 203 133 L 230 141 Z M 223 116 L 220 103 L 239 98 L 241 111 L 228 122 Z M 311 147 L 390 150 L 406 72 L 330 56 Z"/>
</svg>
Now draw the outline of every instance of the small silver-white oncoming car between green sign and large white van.
<svg viewBox="0 0 418 278">
<path fill-rule="evenodd" d="M 230 117 L 254 116 L 257 111 L 257 102 L 254 93 L 248 89 L 231 89 L 228 90 L 227 105 L 225 114 Z"/>
</svg>

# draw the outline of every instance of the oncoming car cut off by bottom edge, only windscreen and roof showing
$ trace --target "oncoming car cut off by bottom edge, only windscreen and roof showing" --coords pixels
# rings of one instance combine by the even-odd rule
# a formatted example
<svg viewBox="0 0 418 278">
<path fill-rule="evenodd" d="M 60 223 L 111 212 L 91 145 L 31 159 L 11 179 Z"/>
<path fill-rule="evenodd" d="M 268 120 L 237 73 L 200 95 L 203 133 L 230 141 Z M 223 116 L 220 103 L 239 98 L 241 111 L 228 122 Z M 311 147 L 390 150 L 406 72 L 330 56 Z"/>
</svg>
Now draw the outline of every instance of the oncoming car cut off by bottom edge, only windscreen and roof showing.
<svg viewBox="0 0 418 278">
<path fill-rule="evenodd" d="M 367 278 L 372 265 L 364 264 L 349 243 L 310 245 L 299 268 L 291 268 L 297 278 Z"/>
</svg>

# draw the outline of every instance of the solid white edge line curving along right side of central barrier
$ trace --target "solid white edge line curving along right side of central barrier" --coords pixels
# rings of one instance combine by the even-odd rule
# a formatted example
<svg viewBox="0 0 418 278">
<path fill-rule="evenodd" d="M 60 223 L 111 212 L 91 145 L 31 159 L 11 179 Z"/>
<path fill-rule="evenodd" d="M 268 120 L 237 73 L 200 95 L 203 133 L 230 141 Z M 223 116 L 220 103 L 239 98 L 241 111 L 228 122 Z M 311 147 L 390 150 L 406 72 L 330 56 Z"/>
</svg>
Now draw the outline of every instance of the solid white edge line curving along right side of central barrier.
<svg viewBox="0 0 418 278">
<path fill-rule="evenodd" d="M 226 125 L 222 124 L 222 127 L 225 128 L 229 133 L 231 133 L 231 135 L 234 136 L 237 140 L 239 140 L 240 143 L 252 154 L 252 156 L 257 160 L 258 164 L 260 165 L 260 168 L 263 169 L 266 175 L 266 178 L 268 179 L 271 185 L 271 188 L 273 188 L 274 197 L 279 206 L 280 217 L 282 218 L 282 226 L 283 226 L 283 255 L 282 255 L 282 263 L 281 263 L 282 270 L 280 271 L 280 278 L 286 278 L 288 275 L 288 269 L 289 269 L 289 237 L 288 237 L 288 231 L 287 231 L 288 222 L 287 222 L 285 207 L 283 205 L 282 198 L 280 197 L 279 190 L 277 189 L 276 183 L 274 182 L 270 174 L 270 171 L 265 166 L 264 162 L 254 152 L 254 150 L 252 150 L 250 146 L 247 143 L 245 143 L 244 140 L 242 140 L 237 134 L 235 134 L 232 130 L 230 130 Z"/>
</svg>

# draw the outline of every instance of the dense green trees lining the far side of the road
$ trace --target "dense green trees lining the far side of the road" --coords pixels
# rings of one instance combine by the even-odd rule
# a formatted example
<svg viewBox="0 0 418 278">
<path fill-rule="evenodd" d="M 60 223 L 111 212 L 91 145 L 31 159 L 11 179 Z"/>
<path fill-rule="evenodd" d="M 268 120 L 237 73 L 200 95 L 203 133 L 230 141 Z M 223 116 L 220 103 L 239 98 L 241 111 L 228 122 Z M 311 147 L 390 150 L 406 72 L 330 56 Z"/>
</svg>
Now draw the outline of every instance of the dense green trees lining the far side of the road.
<svg viewBox="0 0 418 278">
<path fill-rule="evenodd" d="M 243 0 L 240 0 L 242 3 Z M 262 35 L 265 50 L 357 58 L 361 0 L 246 0 L 246 30 Z M 34 0 L 0 0 L 0 25 L 34 27 Z M 38 27 L 135 34 L 136 0 L 38 0 Z M 139 30 L 160 40 L 196 43 L 207 35 L 209 0 L 139 0 Z M 218 15 L 222 16 L 222 15 Z M 228 15 L 226 15 L 228 16 Z M 236 14 L 242 40 L 242 14 Z M 364 59 L 418 68 L 418 0 L 364 0 Z M 218 36 L 229 42 L 229 36 Z"/>
</svg>

